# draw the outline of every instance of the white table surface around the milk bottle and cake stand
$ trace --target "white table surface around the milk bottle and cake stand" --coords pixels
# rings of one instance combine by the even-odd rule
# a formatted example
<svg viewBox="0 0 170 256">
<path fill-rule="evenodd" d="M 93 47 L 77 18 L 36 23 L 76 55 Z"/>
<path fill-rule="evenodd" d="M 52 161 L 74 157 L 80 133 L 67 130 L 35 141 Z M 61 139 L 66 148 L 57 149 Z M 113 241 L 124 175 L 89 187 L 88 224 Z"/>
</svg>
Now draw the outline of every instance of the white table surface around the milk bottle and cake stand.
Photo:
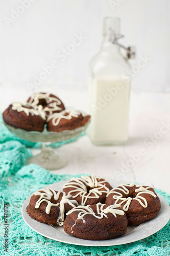
<svg viewBox="0 0 170 256">
<path fill-rule="evenodd" d="M 76 89 L 41 89 L 58 95 L 66 106 L 86 111 L 86 91 Z M 26 87 L 0 87 L 0 110 L 4 111 L 13 101 L 24 101 L 30 93 Z M 170 124 L 170 94 L 131 93 L 129 140 L 120 146 L 94 146 L 87 136 L 76 142 L 66 144 L 58 153 L 67 158 L 68 164 L 57 174 L 92 174 L 126 181 L 151 185 L 170 193 L 170 127 L 165 134 L 158 133 L 163 125 Z M 164 128 L 163 131 L 166 129 Z M 161 137 L 161 138 L 160 138 Z M 153 142 L 145 143 L 147 140 Z M 145 155 L 140 156 L 132 167 L 122 171 L 122 165 L 128 164 L 132 155 L 142 148 Z M 36 154 L 39 150 L 33 150 Z"/>
</svg>

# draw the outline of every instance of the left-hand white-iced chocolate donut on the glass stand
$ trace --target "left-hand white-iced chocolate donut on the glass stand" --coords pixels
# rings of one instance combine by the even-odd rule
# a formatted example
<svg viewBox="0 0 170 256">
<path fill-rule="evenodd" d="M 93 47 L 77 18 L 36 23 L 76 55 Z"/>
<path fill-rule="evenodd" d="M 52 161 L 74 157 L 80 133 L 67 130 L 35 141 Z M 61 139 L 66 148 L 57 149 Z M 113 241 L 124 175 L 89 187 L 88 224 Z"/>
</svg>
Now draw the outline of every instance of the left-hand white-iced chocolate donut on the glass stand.
<svg viewBox="0 0 170 256">
<path fill-rule="evenodd" d="M 42 132 L 46 122 L 44 111 L 34 108 L 29 103 L 14 102 L 4 111 L 4 121 L 25 131 Z"/>
</svg>

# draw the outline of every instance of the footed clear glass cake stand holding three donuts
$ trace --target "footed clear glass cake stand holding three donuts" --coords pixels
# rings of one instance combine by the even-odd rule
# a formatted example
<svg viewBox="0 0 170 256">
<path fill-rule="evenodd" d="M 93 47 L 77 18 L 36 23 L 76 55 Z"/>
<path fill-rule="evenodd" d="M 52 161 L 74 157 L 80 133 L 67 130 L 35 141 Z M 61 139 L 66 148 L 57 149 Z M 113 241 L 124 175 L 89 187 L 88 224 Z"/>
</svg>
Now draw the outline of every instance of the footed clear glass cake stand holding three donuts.
<svg viewBox="0 0 170 256">
<path fill-rule="evenodd" d="M 72 138 L 76 138 L 83 131 L 86 130 L 90 120 L 85 123 L 83 126 L 78 127 L 74 130 L 66 130 L 62 132 L 48 132 L 44 129 L 43 132 L 27 132 L 22 129 L 16 129 L 15 127 L 4 122 L 8 130 L 14 135 L 18 136 L 20 139 L 29 140 L 31 142 L 42 142 L 41 153 L 36 156 L 32 156 L 28 159 L 27 164 L 35 163 L 39 166 L 48 169 L 48 170 L 56 170 L 64 167 L 67 164 L 67 160 L 58 155 L 56 151 L 53 150 L 50 146 L 45 146 L 52 142 L 62 142 L 66 140 L 70 140 Z"/>
</svg>

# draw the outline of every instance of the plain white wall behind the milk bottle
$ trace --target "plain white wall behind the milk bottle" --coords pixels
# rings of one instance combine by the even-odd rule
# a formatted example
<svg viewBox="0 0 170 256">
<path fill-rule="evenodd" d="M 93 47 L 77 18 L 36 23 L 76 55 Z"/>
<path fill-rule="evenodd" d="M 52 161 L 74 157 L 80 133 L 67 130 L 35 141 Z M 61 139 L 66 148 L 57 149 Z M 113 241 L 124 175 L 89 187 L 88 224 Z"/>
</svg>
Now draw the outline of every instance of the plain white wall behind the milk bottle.
<svg viewBox="0 0 170 256">
<path fill-rule="evenodd" d="M 25 3 L 27 8 L 20 7 Z M 32 3 L 31 3 L 32 2 Z M 134 67 L 140 56 L 151 60 L 134 76 L 136 91 L 170 91 L 169 2 L 168 0 L 1 0 L 0 86 L 26 87 L 43 67 L 58 62 L 42 82 L 80 90 L 86 88 L 89 59 L 101 44 L 104 16 L 122 20 L 126 46 L 137 47 Z M 14 12 L 23 12 L 16 16 Z M 75 35 L 83 39 L 62 61 L 57 53 L 68 47 Z M 78 42 L 78 41 L 77 41 Z M 70 48 L 71 49 L 71 48 Z"/>
</svg>

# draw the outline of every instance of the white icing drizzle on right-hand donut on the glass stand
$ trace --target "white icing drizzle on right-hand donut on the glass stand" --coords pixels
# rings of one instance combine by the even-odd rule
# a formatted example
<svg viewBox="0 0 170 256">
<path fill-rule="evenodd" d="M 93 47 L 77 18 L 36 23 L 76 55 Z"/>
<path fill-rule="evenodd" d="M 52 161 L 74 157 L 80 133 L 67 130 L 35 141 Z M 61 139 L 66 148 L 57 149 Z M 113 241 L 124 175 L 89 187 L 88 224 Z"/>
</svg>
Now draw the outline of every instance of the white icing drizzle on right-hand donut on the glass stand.
<svg viewBox="0 0 170 256">
<path fill-rule="evenodd" d="M 66 113 L 68 113 L 68 115 L 65 116 L 64 114 L 66 114 Z M 48 116 L 47 122 L 50 121 L 51 119 L 53 119 L 52 120 L 53 125 L 57 126 L 57 125 L 59 125 L 61 119 L 71 120 L 72 117 L 78 118 L 79 115 L 80 115 L 80 112 L 78 112 L 76 110 L 63 110 L 60 113 L 54 113 L 54 114 Z"/>
</svg>

